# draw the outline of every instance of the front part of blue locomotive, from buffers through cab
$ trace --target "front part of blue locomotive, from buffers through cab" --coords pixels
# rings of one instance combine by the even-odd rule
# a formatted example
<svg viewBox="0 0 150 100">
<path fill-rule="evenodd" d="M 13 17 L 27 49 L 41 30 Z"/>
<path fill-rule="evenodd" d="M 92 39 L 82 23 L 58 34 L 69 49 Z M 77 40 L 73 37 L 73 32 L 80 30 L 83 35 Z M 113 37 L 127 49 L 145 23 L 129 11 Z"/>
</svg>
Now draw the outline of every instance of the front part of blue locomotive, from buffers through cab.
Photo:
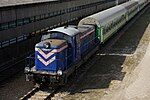
<svg viewBox="0 0 150 100">
<path fill-rule="evenodd" d="M 26 79 L 40 84 L 64 84 L 69 76 L 68 69 L 79 57 L 78 33 L 74 27 L 60 27 L 43 35 L 35 46 L 35 66 L 25 68 Z"/>
</svg>

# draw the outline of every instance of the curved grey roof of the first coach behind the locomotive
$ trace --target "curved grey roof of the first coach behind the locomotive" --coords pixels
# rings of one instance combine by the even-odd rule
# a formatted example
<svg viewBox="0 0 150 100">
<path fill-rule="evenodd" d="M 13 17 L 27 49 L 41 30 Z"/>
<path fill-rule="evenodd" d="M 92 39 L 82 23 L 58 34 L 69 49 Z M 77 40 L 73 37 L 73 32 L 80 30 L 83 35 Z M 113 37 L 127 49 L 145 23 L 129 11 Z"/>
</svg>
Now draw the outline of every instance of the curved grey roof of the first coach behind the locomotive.
<svg viewBox="0 0 150 100">
<path fill-rule="evenodd" d="M 115 7 L 112 7 L 110 9 L 101 11 L 99 13 L 96 13 L 94 15 L 88 16 L 86 18 L 83 18 L 78 26 L 83 24 L 94 24 L 97 26 L 103 26 L 107 23 L 109 23 L 111 20 L 114 20 L 118 15 L 124 14 L 126 12 L 125 7 L 118 5 Z"/>
</svg>

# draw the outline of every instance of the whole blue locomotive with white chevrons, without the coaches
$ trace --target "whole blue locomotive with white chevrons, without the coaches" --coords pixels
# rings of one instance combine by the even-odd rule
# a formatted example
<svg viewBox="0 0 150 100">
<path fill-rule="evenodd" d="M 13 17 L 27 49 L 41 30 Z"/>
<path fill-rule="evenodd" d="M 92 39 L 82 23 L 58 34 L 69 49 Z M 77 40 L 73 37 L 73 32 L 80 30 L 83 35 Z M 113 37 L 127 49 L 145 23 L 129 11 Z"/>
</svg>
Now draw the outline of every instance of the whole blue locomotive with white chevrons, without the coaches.
<svg viewBox="0 0 150 100">
<path fill-rule="evenodd" d="M 98 44 L 93 25 L 50 30 L 35 45 L 35 66 L 26 67 L 26 75 L 38 84 L 64 84 L 70 74 L 94 53 L 91 51 Z"/>
</svg>

